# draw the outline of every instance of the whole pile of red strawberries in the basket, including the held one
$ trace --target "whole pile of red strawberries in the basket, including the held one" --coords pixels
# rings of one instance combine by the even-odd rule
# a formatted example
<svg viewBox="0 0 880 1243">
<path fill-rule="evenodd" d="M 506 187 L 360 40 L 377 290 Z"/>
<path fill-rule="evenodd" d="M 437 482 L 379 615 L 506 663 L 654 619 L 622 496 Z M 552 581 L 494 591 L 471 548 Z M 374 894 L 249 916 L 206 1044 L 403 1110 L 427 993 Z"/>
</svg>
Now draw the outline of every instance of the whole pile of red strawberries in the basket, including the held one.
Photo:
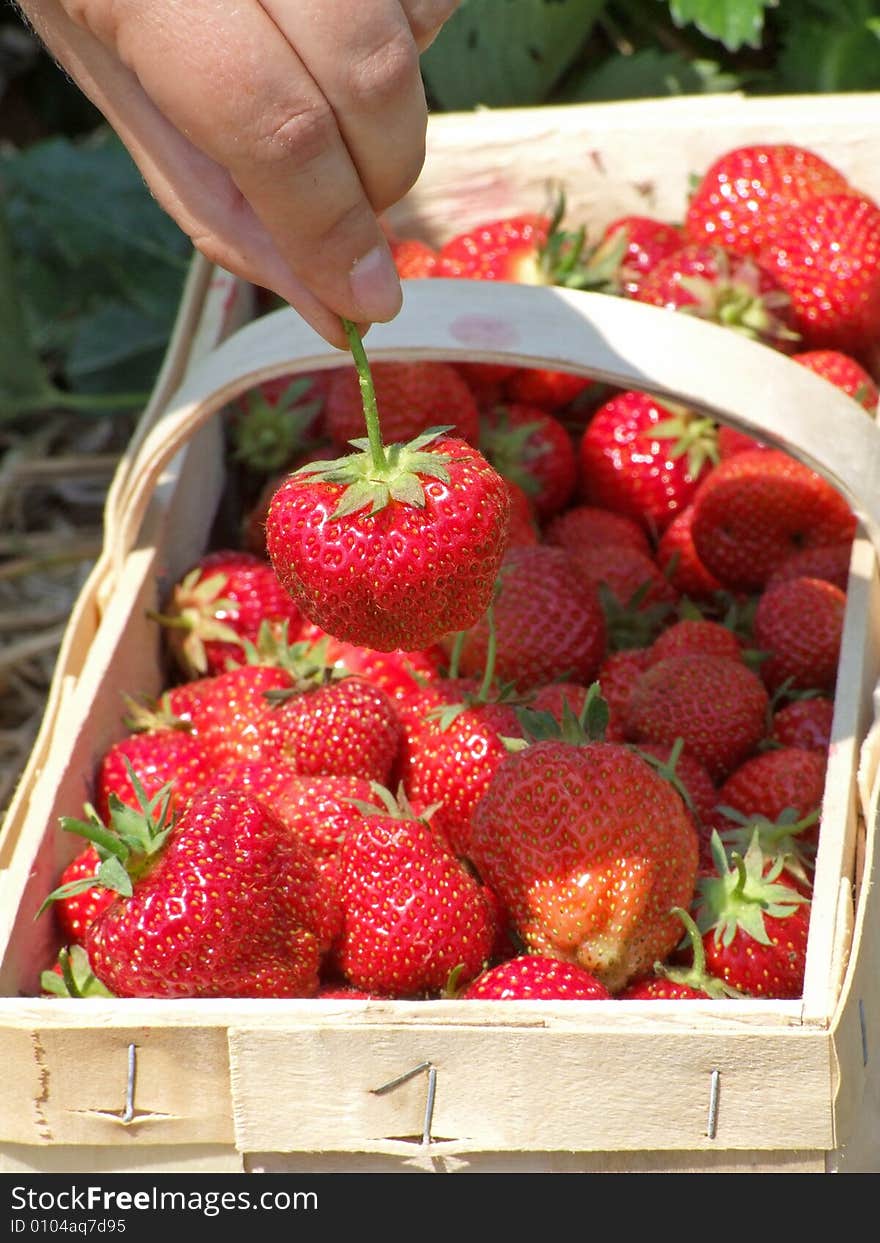
<svg viewBox="0 0 880 1243">
<path fill-rule="evenodd" d="M 538 214 L 393 249 L 716 318 L 876 409 L 880 209 L 799 148 L 592 249 Z M 244 513 L 63 822 L 46 991 L 800 996 L 849 506 L 583 377 L 380 363 L 370 410 L 351 339 L 230 413 Z"/>
</svg>

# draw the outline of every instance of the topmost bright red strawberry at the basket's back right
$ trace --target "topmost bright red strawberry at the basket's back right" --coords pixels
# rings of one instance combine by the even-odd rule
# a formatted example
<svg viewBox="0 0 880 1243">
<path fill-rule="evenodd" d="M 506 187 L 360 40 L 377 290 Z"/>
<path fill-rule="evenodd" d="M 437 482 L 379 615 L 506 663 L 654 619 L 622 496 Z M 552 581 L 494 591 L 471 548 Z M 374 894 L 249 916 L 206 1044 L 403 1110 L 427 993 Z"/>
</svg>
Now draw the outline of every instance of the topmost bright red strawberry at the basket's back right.
<svg viewBox="0 0 880 1243">
<path fill-rule="evenodd" d="M 779 221 L 817 194 L 846 191 L 846 178 L 815 152 L 793 143 L 758 143 L 725 152 L 691 194 L 685 232 L 757 256 Z"/>
</svg>

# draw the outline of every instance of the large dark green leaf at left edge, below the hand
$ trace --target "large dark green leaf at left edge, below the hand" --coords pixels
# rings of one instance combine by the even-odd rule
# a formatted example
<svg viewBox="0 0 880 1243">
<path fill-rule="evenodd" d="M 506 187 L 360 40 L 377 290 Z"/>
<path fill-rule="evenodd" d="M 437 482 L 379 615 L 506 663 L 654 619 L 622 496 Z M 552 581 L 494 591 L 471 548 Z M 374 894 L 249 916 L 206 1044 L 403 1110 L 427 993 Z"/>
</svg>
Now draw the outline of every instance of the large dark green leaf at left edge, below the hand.
<svg viewBox="0 0 880 1243">
<path fill-rule="evenodd" d="M 56 137 L 0 153 L 0 184 L 20 321 L 53 383 L 118 393 L 121 410 L 143 404 L 176 314 L 189 239 L 106 128 L 85 142 Z"/>
</svg>

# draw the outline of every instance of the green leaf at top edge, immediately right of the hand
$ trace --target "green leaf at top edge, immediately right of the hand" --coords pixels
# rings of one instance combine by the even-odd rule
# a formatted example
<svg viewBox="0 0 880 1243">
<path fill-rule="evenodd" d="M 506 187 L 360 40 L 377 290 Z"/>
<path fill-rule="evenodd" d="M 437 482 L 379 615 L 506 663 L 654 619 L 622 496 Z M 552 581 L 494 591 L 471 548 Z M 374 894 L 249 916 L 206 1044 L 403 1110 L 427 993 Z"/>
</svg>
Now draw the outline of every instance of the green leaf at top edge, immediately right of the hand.
<svg viewBox="0 0 880 1243">
<path fill-rule="evenodd" d="M 461 0 L 421 57 L 446 111 L 542 103 L 584 46 L 605 0 Z"/>
</svg>

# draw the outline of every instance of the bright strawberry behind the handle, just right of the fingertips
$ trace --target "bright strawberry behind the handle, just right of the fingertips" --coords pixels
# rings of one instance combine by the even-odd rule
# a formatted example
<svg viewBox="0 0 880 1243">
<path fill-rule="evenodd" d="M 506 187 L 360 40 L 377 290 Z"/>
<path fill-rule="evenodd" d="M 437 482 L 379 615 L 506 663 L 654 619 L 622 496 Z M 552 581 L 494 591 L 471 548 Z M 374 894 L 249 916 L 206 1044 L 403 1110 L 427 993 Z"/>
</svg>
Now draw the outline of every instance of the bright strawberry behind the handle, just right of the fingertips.
<svg viewBox="0 0 880 1243">
<path fill-rule="evenodd" d="M 542 256 L 551 229 L 551 218 L 536 213 L 486 221 L 444 242 L 434 275 L 549 285 Z"/>
</svg>

